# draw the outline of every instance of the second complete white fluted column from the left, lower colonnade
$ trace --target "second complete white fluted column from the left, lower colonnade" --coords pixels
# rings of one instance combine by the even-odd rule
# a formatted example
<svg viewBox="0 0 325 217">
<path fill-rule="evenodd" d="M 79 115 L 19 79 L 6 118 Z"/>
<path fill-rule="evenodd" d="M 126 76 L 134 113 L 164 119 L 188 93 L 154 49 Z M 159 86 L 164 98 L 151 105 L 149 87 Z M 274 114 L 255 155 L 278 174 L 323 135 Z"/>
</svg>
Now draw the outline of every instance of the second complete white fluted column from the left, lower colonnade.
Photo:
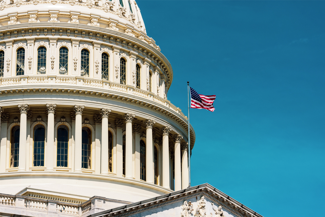
<svg viewBox="0 0 325 217">
<path fill-rule="evenodd" d="M 54 113 L 57 105 L 46 104 L 47 108 L 47 144 L 46 144 L 46 170 L 54 171 Z"/>
</svg>

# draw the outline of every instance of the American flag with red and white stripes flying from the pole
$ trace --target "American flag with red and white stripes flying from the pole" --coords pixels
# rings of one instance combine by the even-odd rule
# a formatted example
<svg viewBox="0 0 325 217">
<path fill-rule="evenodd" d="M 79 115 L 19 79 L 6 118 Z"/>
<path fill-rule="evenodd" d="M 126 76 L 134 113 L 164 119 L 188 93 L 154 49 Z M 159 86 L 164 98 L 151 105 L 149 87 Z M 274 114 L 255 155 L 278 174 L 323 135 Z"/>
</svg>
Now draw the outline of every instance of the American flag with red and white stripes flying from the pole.
<svg viewBox="0 0 325 217">
<path fill-rule="evenodd" d="M 215 95 L 204 96 L 198 94 L 191 87 L 190 87 L 190 91 L 191 91 L 191 108 L 207 109 L 211 112 L 214 111 L 213 101 L 215 100 Z"/>
</svg>

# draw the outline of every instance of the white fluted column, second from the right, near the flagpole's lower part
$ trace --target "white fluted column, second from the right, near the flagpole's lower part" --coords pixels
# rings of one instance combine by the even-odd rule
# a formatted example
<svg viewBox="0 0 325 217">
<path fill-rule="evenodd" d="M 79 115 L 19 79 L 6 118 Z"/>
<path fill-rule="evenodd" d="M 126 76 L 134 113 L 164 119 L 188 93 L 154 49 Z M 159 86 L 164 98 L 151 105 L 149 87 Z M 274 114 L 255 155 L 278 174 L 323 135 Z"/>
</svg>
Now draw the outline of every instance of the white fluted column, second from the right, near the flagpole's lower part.
<svg viewBox="0 0 325 217">
<path fill-rule="evenodd" d="M 182 190 L 181 177 L 181 140 L 183 136 L 180 134 L 174 135 L 175 141 L 175 191 Z"/>
</svg>

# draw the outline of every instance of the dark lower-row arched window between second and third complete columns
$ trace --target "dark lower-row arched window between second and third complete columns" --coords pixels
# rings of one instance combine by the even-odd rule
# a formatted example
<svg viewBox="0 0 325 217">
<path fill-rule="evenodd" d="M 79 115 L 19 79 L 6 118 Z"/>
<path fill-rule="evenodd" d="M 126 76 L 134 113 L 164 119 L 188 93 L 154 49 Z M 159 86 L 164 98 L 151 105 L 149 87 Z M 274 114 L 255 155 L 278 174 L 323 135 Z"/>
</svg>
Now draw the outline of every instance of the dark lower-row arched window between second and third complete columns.
<svg viewBox="0 0 325 217">
<path fill-rule="evenodd" d="M 69 129 L 65 125 L 58 128 L 57 137 L 57 167 L 68 167 Z"/>
</svg>

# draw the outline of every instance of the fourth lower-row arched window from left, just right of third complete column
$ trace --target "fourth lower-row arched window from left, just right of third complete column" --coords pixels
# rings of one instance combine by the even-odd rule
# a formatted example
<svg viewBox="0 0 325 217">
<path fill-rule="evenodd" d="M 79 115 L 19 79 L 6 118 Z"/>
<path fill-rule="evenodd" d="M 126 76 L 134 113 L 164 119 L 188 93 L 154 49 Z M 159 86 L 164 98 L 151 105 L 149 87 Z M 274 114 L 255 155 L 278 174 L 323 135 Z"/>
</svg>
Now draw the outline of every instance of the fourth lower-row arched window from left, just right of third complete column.
<svg viewBox="0 0 325 217">
<path fill-rule="evenodd" d="M 82 128 L 82 153 L 81 168 L 91 169 L 91 131 L 87 127 Z"/>
</svg>

